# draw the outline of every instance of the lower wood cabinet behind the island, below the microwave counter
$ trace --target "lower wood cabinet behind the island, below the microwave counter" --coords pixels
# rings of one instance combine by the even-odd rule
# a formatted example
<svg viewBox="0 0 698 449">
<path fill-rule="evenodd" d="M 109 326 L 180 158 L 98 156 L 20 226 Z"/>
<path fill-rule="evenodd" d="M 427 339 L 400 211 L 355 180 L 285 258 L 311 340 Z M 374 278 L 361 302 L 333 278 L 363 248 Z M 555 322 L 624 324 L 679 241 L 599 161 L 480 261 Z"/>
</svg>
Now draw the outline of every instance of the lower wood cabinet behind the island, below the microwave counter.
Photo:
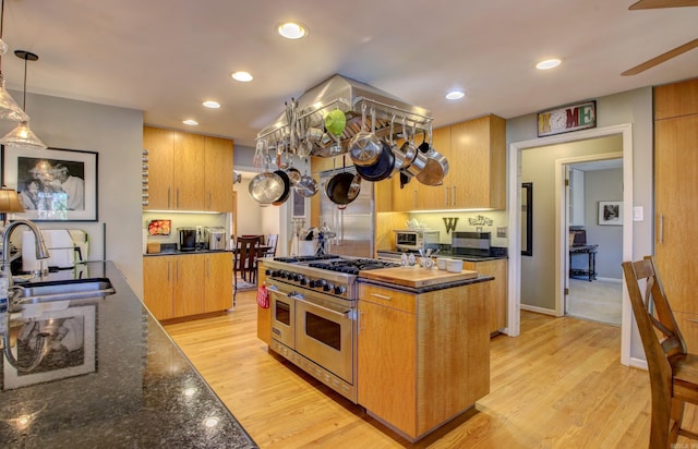
<svg viewBox="0 0 698 449">
<path fill-rule="evenodd" d="M 504 258 L 482 262 L 464 260 L 462 268 L 478 271 L 481 275 L 494 276 L 494 280 L 488 282 L 485 287 L 485 296 L 490 308 L 490 333 L 504 329 L 507 308 L 507 260 Z"/>
</svg>

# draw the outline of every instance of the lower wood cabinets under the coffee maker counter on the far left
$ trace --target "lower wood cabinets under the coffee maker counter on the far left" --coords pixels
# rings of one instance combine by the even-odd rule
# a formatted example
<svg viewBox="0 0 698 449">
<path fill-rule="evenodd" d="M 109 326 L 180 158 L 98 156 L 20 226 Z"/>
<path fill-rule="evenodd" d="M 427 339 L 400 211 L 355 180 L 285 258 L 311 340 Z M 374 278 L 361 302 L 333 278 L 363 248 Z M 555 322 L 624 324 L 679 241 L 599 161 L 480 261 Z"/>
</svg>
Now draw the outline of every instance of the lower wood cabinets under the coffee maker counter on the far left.
<svg viewBox="0 0 698 449">
<path fill-rule="evenodd" d="M 204 253 L 143 258 L 145 305 L 159 320 L 232 306 L 232 255 Z"/>
</svg>

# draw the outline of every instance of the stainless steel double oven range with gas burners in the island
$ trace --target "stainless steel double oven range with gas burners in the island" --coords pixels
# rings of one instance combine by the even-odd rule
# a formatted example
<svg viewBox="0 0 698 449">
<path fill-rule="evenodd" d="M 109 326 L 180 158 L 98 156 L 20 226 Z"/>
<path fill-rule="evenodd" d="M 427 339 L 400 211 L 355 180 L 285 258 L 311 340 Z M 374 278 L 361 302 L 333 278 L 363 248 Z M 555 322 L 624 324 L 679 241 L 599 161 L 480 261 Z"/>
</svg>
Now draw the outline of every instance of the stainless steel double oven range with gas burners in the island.
<svg viewBox="0 0 698 449">
<path fill-rule="evenodd" d="M 399 264 L 332 254 L 264 263 L 269 348 L 356 403 L 357 278 L 361 270 Z"/>
</svg>

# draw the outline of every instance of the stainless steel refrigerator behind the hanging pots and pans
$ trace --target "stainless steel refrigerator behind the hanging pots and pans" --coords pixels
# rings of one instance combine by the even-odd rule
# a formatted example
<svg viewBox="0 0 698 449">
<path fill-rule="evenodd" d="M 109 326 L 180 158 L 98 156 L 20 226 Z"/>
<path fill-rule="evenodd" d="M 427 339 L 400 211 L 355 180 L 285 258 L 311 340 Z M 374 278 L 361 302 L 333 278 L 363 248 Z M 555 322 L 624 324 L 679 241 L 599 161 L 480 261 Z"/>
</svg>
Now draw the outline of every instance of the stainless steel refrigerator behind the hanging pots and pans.
<svg viewBox="0 0 698 449">
<path fill-rule="evenodd" d="M 341 171 L 356 173 L 353 167 L 328 170 L 320 173 L 322 191 L 332 177 Z M 340 207 L 325 193 L 320 199 L 320 223 L 327 225 L 335 236 L 329 239 L 327 252 L 341 253 L 353 257 L 373 257 L 373 183 L 362 182 L 359 196 L 350 204 Z"/>
</svg>

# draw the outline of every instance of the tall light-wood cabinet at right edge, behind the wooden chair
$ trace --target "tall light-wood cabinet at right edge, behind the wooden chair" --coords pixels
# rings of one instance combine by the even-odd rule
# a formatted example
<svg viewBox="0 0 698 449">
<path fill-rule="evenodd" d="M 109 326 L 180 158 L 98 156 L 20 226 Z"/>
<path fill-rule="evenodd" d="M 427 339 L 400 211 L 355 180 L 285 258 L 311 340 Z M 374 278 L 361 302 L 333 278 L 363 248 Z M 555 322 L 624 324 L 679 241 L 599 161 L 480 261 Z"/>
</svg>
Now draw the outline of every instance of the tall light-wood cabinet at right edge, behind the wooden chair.
<svg viewBox="0 0 698 449">
<path fill-rule="evenodd" d="M 689 352 L 698 351 L 698 268 L 686 251 L 697 241 L 698 78 L 654 89 L 654 256 Z"/>
</svg>

